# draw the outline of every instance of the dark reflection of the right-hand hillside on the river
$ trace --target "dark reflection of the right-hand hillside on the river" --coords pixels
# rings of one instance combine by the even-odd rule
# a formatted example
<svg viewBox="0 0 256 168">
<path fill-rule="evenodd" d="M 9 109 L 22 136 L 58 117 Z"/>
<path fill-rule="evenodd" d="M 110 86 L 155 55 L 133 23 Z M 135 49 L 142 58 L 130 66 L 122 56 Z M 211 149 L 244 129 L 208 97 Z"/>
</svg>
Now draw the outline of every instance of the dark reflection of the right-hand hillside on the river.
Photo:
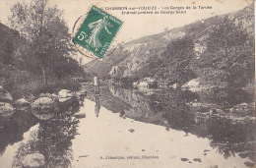
<svg viewBox="0 0 256 168">
<path fill-rule="evenodd" d="M 128 118 L 211 140 L 211 146 L 224 158 L 234 153 L 247 154 L 255 161 L 255 122 L 234 122 L 211 113 L 242 102 L 251 103 L 253 95 L 244 90 L 134 90 L 111 85 L 102 89 L 102 106 Z M 241 109 L 242 110 L 242 109 Z M 228 112 L 227 112 L 228 111 Z M 253 116 L 254 110 L 248 114 Z"/>
</svg>

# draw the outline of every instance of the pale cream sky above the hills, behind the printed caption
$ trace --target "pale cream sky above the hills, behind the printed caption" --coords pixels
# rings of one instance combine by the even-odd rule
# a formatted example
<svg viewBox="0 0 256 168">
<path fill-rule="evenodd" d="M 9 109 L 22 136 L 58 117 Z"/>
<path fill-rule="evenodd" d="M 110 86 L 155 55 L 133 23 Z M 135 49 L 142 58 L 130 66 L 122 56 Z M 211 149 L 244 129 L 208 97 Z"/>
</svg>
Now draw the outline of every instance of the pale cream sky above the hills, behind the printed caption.
<svg viewBox="0 0 256 168">
<path fill-rule="evenodd" d="M 27 1 L 27 0 L 25 0 Z M 0 22 L 8 26 L 8 16 L 11 15 L 10 7 L 17 0 L 0 0 Z M 79 17 L 89 12 L 92 5 L 101 8 L 108 14 L 123 21 L 122 28 L 118 31 L 113 43 L 127 42 L 145 35 L 160 33 L 164 28 L 178 28 L 198 20 L 207 19 L 216 15 L 223 15 L 243 9 L 253 0 L 49 0 L 64 11 L 70 32 Z M 122 15 L 120 10 L 107 10 L 107 7 L 151 7 L 162 8 L 196 6 L 196 10 L 187 10 L 186 14 L 156 14 L 156 15 Z M 199 9 L 198 6 L 211 6 L 212 9 Z M 138 11 L 138 10 L 137 10 Z M 144 11 L 144 10 L 142 10 Z M 80 57 L 81 55 L 78 55 Z M 84 63 L 91 59 L 84 59 Z"/>
</svg>

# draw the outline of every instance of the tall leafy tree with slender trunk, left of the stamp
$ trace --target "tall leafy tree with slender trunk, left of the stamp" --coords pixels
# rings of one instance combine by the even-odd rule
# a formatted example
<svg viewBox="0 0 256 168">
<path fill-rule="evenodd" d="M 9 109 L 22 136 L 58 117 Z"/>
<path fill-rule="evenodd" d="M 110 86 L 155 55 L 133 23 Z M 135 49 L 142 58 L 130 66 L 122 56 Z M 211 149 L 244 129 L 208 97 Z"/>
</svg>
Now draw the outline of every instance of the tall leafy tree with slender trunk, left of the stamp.
<svg viewBox="0 0 256 168">
<path fill-rule="evenodd" d="M 63 13 L 56 6 L 50 6 L 47 0 L 32 0 L 30 4 L 18 2 L 11 12 L 10 26 L 29 41 L 30 52 L 38 58 L 43 82 L 47 84 L 46 71 L 53 67 L 56 56 L 67 56 L 73 51 Z"/>
</svg>

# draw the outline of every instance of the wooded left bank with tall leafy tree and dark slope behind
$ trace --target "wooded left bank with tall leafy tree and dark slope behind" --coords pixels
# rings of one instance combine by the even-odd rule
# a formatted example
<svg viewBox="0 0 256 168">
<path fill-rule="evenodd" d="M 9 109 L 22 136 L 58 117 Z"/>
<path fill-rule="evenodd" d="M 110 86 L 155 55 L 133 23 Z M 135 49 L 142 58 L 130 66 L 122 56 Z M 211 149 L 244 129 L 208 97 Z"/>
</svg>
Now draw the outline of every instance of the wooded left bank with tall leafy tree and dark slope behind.
<svg viewBox="0 0 256 168">
<path fill-rule="evenodd" d="M 78 89 L 84 70 L 72 58 L 75 50 L 62 11 L 47 1 L 17 3 L 11 28 L 0 24 L 1 84 L 17 96 L 25 92 Z"/>
</svg>

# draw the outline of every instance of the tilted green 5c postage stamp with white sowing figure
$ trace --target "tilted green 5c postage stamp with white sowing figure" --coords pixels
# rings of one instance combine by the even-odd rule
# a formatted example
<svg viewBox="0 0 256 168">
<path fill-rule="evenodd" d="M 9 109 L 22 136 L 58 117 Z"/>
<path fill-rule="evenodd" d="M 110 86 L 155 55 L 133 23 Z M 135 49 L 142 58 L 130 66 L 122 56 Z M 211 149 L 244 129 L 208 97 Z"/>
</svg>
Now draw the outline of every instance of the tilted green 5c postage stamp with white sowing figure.
<svg viewBox="0 0 256 168">
<path fill-rule="evenodd" d="M 122 24 L 120 20 L 93 6 L 72 41 L 102 58 Z"/>
</svg>

